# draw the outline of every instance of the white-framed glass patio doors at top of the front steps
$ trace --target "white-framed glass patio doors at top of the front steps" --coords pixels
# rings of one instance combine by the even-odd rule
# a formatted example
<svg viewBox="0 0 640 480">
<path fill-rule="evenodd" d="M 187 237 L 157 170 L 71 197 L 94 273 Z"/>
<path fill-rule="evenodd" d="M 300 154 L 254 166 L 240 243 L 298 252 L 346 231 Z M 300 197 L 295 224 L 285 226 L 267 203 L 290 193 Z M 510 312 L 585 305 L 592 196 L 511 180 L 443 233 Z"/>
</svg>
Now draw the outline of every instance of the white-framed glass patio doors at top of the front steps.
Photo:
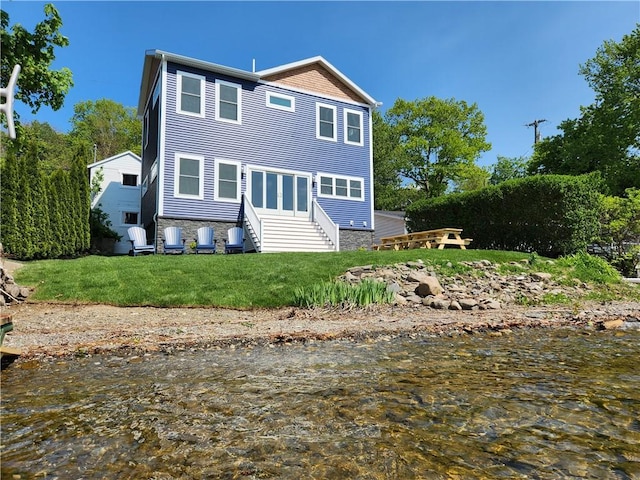
<svg viewBox="0 0 640 480">
<path fill-rule="evenodd" d="M 250 170 L 251 203 L 267 215 L 309 216 L 311 176 L 300 173 Z"/>
</svg>

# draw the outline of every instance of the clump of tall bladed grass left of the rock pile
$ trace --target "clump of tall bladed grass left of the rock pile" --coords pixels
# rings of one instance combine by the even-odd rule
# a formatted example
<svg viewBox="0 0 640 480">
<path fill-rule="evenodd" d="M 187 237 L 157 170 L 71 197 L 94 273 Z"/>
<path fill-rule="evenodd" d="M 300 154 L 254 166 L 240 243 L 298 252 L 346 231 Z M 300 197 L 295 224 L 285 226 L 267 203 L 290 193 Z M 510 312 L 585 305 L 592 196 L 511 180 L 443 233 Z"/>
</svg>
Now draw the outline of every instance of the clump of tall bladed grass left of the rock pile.
<svg viewBox="0 0 640 480">
<path fill-rule="evenodd" d="M 391 303 L 392 291 L 384 282 L 363 280 L 357 284 L 343 281 L 322 282 L 309 287 L 298 287 L 294 292 L 294 303 L 300 307 L 366 307 L 373 304 Z"/>
</svg>

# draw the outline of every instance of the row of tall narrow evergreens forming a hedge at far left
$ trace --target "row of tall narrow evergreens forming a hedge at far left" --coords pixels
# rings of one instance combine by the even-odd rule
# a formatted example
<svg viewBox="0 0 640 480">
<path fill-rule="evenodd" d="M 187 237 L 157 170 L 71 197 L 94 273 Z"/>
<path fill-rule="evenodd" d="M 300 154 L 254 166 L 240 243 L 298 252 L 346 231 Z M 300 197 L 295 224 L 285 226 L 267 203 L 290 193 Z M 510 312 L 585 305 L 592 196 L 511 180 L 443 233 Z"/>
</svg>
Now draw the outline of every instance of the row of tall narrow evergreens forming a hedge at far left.
<svg viewBox="0 0 640 480">
<path fill-rule="evenodd" d="M 70 170 L 47 175 L 35 143 L 8 148 L 0 165 L 0 242 L 18 260 L 76 256 L 88 251 L 89 179 L 86 152 Z"/>
</svg>

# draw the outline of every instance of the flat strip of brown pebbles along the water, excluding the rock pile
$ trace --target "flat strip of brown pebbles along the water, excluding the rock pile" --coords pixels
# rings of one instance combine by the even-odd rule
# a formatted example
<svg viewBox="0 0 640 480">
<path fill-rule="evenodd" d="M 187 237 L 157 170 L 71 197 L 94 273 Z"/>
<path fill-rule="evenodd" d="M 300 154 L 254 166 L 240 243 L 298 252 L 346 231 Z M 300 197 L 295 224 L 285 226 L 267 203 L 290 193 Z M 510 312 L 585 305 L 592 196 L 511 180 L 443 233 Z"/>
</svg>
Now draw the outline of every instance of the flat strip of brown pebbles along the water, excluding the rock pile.
<svg viewBox="0 0 640 480">
<path fill-rule="evenodd" d="M 140 355 L 177 350 L 286 345 L 398 336 L 450 336 L 521 328 L 640 329 L 637 302 L 586 303 L 579 308 L 541 306 L 449 311 L 407 306 L 362 310 L 122 308 L 108 305 L 25 303 L 8 310 L 14 331 L 5 344 L 20 361 L 98 354 Z"/>
</svg>

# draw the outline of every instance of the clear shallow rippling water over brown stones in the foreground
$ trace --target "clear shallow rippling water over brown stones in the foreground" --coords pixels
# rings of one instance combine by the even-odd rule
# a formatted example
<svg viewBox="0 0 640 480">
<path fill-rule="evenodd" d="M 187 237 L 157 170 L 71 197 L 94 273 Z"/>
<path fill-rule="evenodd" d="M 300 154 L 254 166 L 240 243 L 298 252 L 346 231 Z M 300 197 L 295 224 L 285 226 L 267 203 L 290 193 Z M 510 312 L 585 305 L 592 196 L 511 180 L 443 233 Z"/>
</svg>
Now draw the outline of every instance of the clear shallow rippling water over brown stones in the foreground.
<svg viewBox="0 0 640 480">
<path fill-rule="evenodd" d="M 640 478 L 640 332 L 22 362 L 2 478 Z"/>
</svg>

